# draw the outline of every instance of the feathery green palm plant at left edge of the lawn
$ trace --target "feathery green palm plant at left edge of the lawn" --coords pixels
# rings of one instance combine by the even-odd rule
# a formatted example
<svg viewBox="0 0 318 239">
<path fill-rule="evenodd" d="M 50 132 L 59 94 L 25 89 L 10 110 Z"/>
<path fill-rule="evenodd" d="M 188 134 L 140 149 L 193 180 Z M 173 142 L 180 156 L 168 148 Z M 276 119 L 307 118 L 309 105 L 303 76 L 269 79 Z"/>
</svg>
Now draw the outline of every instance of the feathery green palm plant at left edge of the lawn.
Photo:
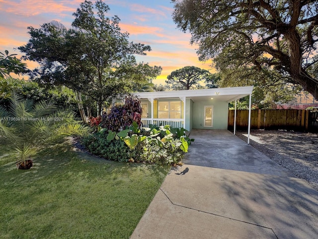
<svg viewBox="0 0 318 239">
<path fill-rule="evenodd" d="M 9 145 L 10 154 L 21 169 L 32 166 L 40 146 L 59 136 L 87 136 L 89 129 L 77 121 L 72 109 L 57 108 L 52 102 L 34 104 L 12 94 L 8 109 L 0 106 L 0 142 Z"/>
</svg>

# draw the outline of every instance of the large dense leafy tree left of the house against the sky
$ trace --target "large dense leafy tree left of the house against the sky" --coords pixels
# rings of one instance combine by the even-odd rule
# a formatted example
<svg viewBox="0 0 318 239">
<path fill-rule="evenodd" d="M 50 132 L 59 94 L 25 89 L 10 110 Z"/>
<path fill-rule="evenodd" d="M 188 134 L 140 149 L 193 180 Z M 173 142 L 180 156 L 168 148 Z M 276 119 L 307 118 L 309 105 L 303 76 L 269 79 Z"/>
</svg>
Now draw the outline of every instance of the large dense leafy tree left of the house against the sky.
<svg viewBox="0 0 318 239">
<path fill-rule="evenodd" d="M 145 55 L 151 47 L 129 42 L 129 33 L 120 30 L 120 19 L 107 17 L 108 11 L 101 0 L 95 4 L 85 0 L 73 14 L 73 28 L 58 22 L 28 27 L 31 37 L 18 48 L 27 59 L 41 64 L 33 78 L 89 96 L 97 102 L 98 115 L 104 102 L 149 81 L 160 70 L 136 62 L 135 55 Z"/>
</svg>

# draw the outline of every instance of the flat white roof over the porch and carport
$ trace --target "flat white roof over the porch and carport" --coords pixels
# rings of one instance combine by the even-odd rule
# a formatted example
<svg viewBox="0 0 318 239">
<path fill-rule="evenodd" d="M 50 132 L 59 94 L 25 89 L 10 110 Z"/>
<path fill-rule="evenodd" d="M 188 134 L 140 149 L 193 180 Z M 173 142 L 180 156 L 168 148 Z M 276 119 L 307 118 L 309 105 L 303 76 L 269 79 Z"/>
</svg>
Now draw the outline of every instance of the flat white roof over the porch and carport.
<svg viewBox="0 0 318 239">
<path fill-rule="evenodd" d="M 135 92 L 133 95 L 138 96 L 140 99 L 186 97 L 191 98 L 194 102 L 206 101 L 213 98 L 216 101 L 226 101 L 229 103 L 252 94 L 252 90 L 252 86 L 245 86 L 183 91 Z"/>
</svg>

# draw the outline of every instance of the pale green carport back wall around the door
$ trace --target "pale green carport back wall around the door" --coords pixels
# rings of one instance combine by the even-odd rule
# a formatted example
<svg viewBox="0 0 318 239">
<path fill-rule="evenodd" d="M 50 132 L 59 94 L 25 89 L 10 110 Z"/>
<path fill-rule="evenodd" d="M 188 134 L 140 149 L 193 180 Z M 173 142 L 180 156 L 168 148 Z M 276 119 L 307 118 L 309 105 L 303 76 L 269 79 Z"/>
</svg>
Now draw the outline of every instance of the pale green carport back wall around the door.
<svg viewBox="0 0 318 239">
<path fill-rule="evenodd" d="M 214 106 L 213 127 L 204 127 L 204 106 Z M 193 103 L 193 128 L 227 129 L 229 104 L 223 101 L 202 101 Z"/>
</svg>

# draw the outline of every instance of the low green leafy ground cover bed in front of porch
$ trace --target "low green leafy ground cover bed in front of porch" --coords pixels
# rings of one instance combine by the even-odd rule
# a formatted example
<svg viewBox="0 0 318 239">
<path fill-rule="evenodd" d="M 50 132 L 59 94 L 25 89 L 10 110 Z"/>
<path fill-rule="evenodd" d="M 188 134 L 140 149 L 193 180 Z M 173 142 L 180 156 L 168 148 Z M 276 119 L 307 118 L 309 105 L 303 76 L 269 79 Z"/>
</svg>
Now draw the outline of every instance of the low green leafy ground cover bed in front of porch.
<svg viewBox="0 0 318 239">
<path fill-rule="evenodd" d="M 128 129 L 114 132 L 100 128 L 82 139 L 85 148 L 114 161 L 147 162 L 174 165 L 182 161 L 184 152 L 193 139 L 185 136 L 184 128 L 170 125 L 139 128 L 136 122 Z"/>
</svg>

